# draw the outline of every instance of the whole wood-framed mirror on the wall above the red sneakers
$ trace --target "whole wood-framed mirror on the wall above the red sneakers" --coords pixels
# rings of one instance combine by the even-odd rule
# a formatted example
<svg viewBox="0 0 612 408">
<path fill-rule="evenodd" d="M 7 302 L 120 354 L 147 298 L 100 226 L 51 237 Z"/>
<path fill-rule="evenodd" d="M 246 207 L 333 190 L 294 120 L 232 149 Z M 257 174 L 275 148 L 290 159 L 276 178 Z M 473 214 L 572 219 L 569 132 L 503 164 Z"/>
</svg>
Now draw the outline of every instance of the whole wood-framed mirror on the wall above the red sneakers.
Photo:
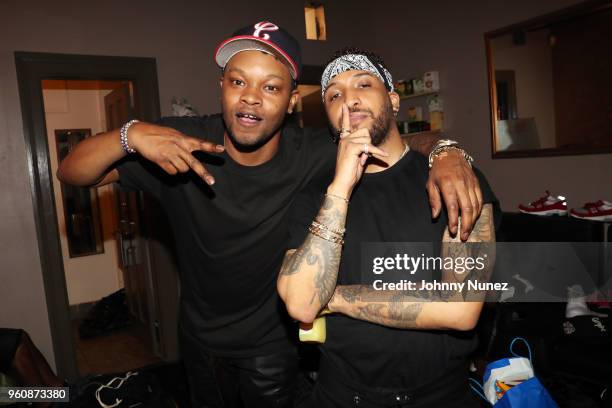
<svg viewBox="0 0 612 408">
<path fill-rule="evenodd" d="M 494 158 L 612 152 L 612 2 L 485 34 Z"/>
</svg>

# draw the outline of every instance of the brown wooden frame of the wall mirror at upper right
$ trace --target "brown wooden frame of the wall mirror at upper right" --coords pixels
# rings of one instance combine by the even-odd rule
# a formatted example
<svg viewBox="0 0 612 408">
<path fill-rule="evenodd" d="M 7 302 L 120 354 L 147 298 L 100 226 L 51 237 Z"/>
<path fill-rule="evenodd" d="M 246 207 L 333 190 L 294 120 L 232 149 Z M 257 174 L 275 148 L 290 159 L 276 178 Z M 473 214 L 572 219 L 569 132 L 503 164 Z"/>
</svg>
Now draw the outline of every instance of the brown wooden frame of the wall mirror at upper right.
<svg viewBox="0 0 612 408">
<path fill-rule="evenodd" d="M 485 49 L 487 56 L 487 77 L 489 86 L 489 119 L 491 126 L 491 157 L 493 159 L 507 159 L 518 157 L 544 157 L 544 156 L 567 156 L 581 154 L 605 154 L 612 153 L 611 147 L 585 147 L 585 148 L 543 148 L 532 150 L 497 151 L 497 93 L 495 89 L 495 69 L 493 67 L 493 52 L 491 40 L 515 31 L 533 30 L 545 27 L 553 22 L 559 22 L 602 11 L 612 7 L 610 0 L 590 0 L 575 6 L 567 7 L 549 14 L 531 18 L 529 20 L 512 24 L 484 34 Z"/>
</svg>

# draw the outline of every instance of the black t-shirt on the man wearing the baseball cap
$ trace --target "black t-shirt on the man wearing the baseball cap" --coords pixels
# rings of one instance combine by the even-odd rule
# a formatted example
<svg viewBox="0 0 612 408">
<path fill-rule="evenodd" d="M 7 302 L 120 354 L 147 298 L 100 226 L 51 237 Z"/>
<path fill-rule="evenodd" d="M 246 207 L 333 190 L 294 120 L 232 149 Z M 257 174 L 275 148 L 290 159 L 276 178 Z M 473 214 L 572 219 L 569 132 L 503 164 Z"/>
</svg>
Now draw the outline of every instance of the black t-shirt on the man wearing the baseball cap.
<svg viewBox="0 0 612 408">
<path fill-rule="evenodd" d="M 221 115 L 164 118 L 161 125 L 223 144 Z M 181 274 L 182 330 L 209 352 L 265 354 L 290 346 L 285 307 L 276 292 L 287 249 L 287 213 L 297 193 L 333 166 L 329 132 L 287 125 L 277 154 L 242 166 L 226 153 L 196 152 L 215 177 L 169 176 L 133 155 L 119 164 L 120 183 L 155 196 L 174 233 Z"/>
</svg>

